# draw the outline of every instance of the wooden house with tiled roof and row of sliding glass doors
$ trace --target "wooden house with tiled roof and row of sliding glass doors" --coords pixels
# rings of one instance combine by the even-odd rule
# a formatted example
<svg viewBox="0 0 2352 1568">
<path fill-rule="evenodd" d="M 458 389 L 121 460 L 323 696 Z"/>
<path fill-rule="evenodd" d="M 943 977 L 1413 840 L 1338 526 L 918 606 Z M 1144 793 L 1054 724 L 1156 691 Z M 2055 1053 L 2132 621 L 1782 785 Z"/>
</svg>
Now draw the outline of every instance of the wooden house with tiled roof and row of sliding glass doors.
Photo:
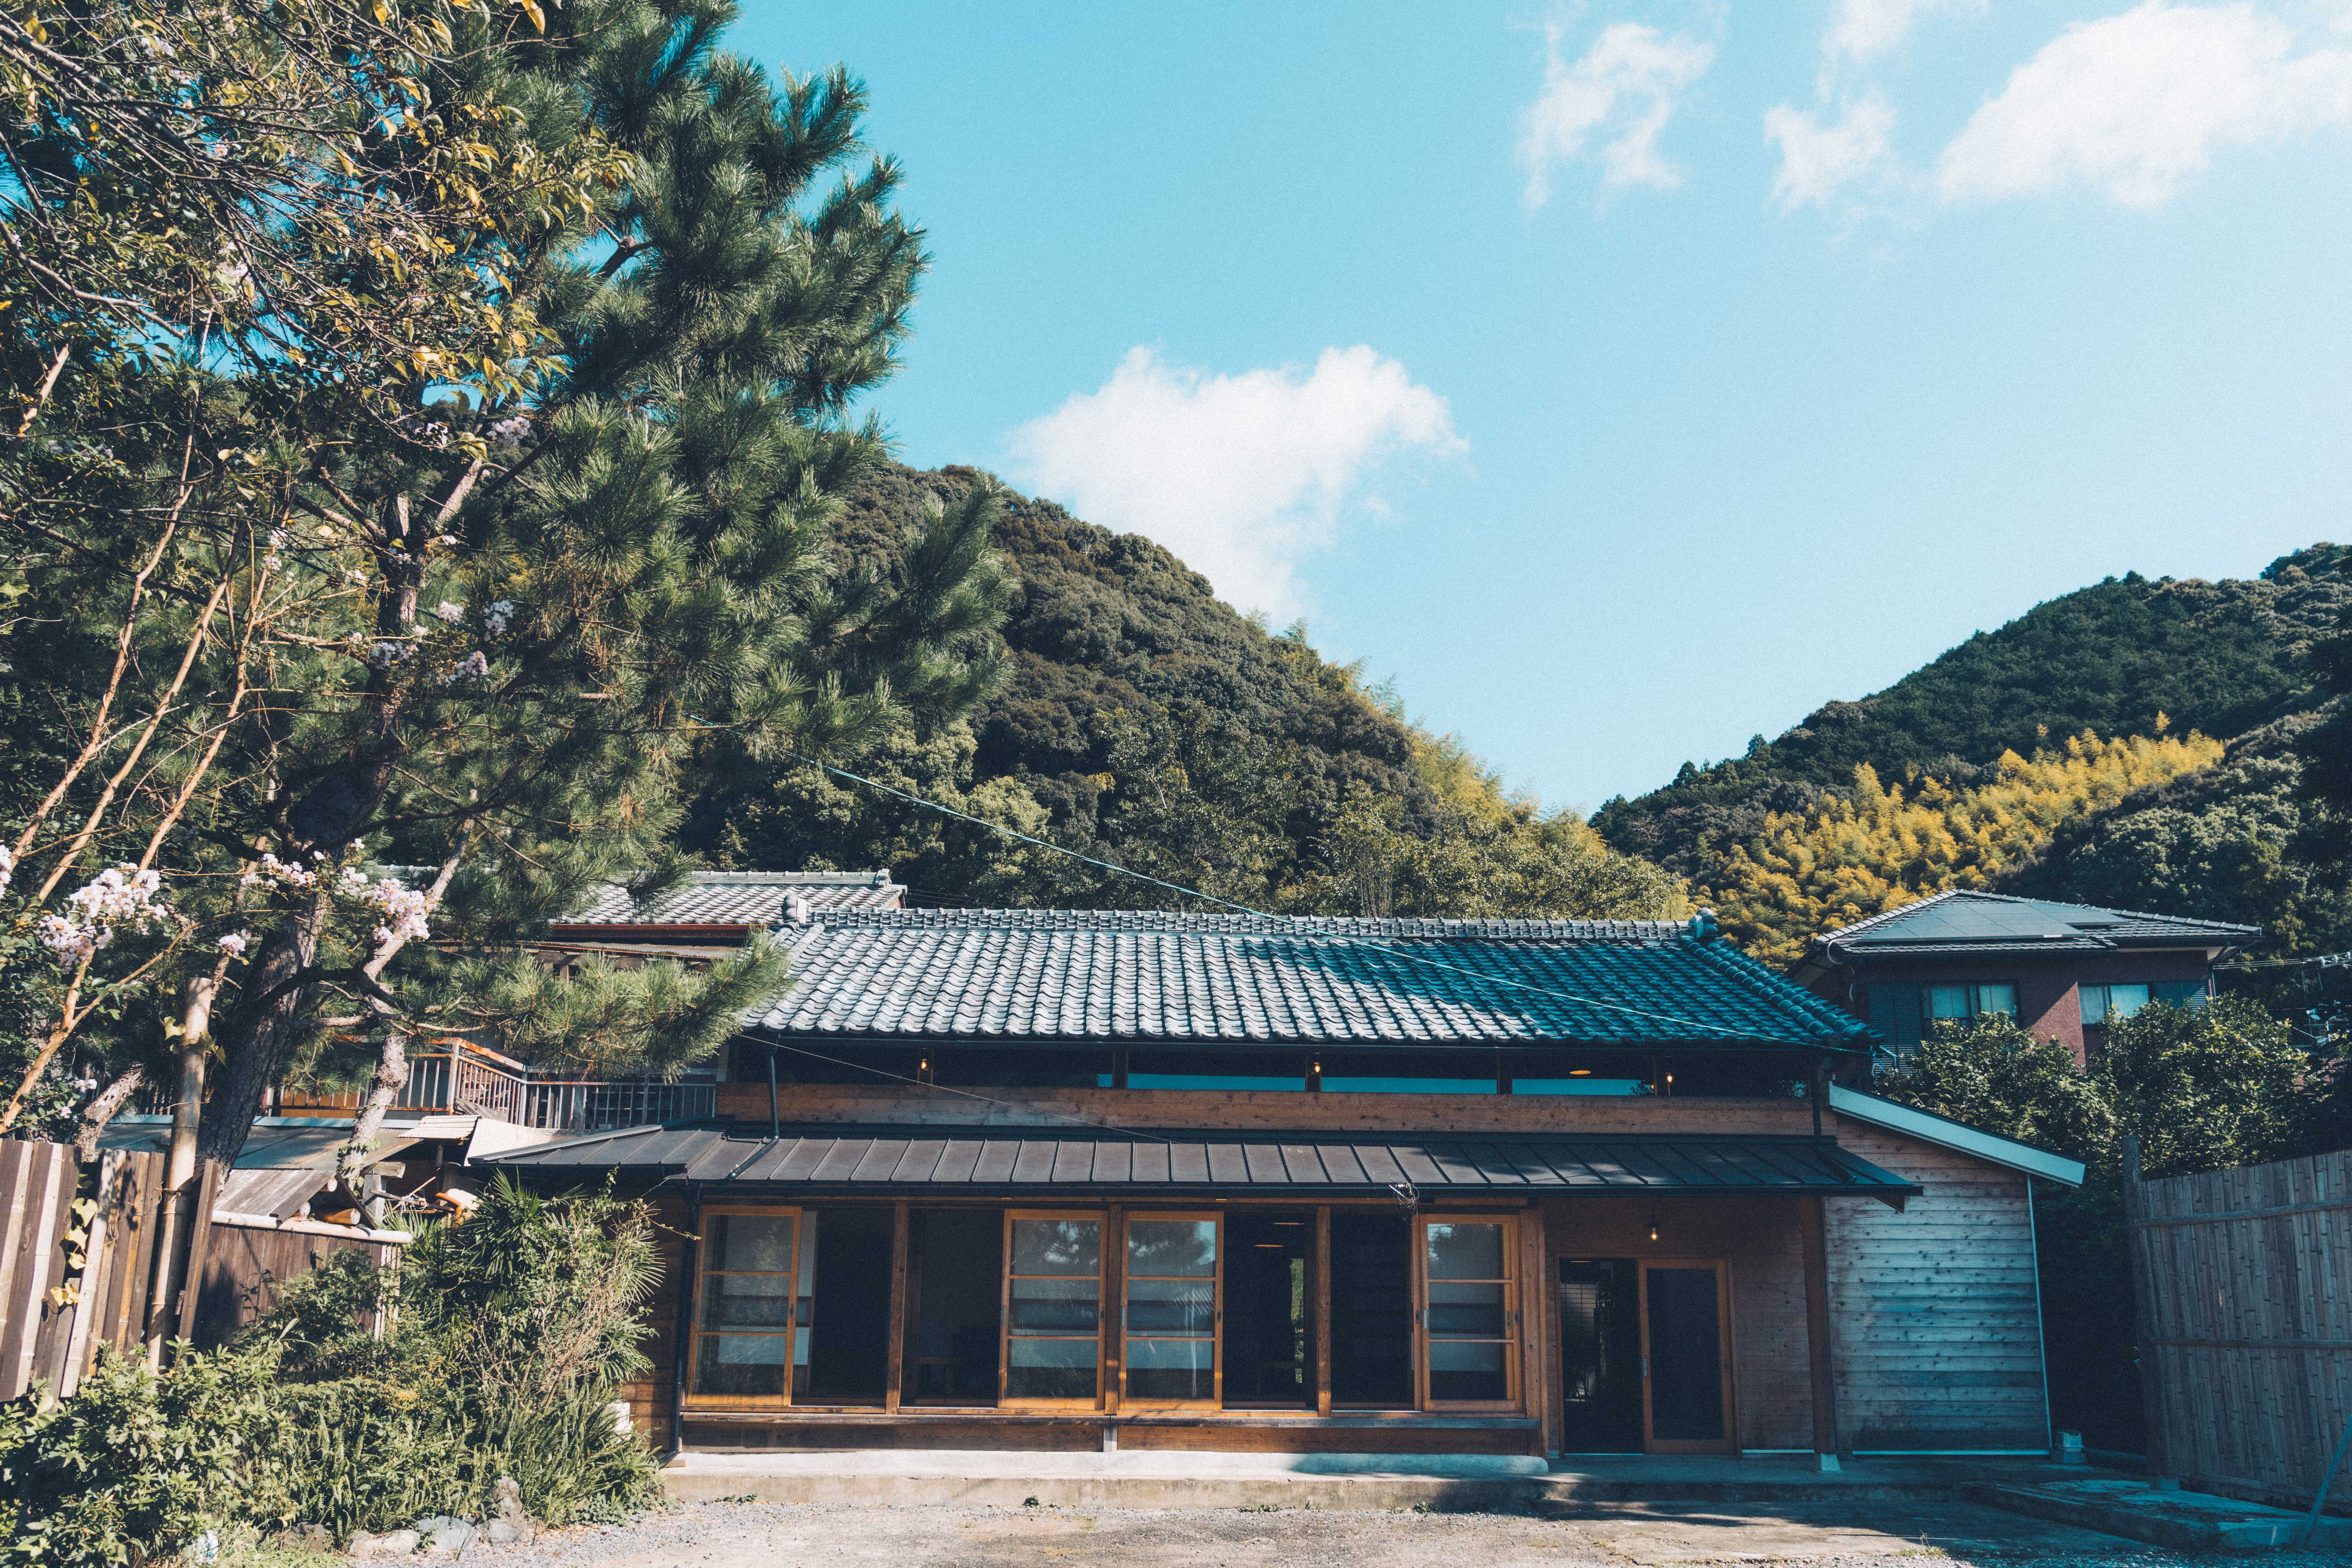
<svg viewBox="0 0 2352 1568">
<path fill-rule="evenodd" d="M 661 1218 L 670 1448 L 2042 1450 L 2032 1182 L 1710 924 L 840 910 Z"/>
</svg>

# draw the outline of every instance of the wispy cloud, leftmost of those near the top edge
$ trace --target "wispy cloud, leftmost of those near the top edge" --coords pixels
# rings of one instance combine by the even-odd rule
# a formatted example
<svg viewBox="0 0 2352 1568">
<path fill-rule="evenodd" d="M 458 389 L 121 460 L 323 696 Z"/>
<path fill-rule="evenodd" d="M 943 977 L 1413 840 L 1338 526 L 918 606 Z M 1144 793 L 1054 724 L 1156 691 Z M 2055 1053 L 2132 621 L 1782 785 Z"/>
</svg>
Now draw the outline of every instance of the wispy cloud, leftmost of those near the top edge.
<svg viewBox="0 0 2352 1568">
<path fill-rule="evenodd" d="M 1637 21 L 1602 28 L 1573 66 L 1559 59 L 1559 28 L 1545 28 L 1543 94 L 1526 110 L 1519 162 L 1526 205 L 1552 197 L 1552 165 L 1597 143 L 1602 183 L 1670 190 L 1682 169 L 1658 153 L 1658 134 L 1682 92 L 1715 63 L 1715 45 Z"/>
</svg>

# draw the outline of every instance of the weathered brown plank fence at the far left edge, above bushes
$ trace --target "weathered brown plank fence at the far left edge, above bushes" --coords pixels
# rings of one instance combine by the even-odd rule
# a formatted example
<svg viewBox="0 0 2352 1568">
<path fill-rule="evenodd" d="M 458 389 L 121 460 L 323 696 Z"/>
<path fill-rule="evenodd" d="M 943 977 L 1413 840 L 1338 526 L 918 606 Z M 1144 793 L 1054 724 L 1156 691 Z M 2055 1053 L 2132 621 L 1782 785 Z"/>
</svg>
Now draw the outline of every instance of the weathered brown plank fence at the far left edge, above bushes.
<svg viewBox="0 0 2352 1568">
<path fill-rule="evenodd" d="M 71 1394 L 101 1345 L 141 1347 L 162 1164 L 162 1154 L 106 1150 L 80 1166 L 64 1143 L 0 1140 L 0 1399 L 35 1382 Z M 96 1201 L 80 1269 L 66 1239 L 78 1197 Z"/>
</svg>

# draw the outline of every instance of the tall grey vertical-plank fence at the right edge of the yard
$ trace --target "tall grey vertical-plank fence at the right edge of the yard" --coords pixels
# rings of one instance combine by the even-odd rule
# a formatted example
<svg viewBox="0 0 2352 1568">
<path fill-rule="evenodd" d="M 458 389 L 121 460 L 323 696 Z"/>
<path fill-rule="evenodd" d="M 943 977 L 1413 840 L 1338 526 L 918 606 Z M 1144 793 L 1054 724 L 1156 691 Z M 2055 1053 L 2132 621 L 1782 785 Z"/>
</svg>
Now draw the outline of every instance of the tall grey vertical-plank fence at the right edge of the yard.
<svg viewBox="0 0 2352 1568">
<path fill-rule="evenodd" d="M 2140 1180 L 2126 1147 L 2124 1213 L 2150 1469 L 2310 1507 L 2352 1418 L 2352 1150 Z"/>
</svg>

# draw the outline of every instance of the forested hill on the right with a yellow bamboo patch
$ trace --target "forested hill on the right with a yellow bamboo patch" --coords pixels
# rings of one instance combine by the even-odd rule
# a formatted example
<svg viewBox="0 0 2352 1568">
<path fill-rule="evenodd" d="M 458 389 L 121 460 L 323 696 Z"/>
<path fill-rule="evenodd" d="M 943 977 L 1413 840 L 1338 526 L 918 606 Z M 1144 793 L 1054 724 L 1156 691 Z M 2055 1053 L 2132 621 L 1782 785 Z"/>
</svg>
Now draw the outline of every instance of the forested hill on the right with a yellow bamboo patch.
<svg viewBox="0 0 2352 1568">
<path fill-rule="evenodd" d="M 2256 581 L 2107 578 L 1592 823 L 1773 959 L 1943 886 L 2246 919 L 2274 954 L 2340 947 L 2352 860 L 2293 738 L 2328 701 L 2312 649 L 2345 614 L 2340 545 Z"/>
</svg>

